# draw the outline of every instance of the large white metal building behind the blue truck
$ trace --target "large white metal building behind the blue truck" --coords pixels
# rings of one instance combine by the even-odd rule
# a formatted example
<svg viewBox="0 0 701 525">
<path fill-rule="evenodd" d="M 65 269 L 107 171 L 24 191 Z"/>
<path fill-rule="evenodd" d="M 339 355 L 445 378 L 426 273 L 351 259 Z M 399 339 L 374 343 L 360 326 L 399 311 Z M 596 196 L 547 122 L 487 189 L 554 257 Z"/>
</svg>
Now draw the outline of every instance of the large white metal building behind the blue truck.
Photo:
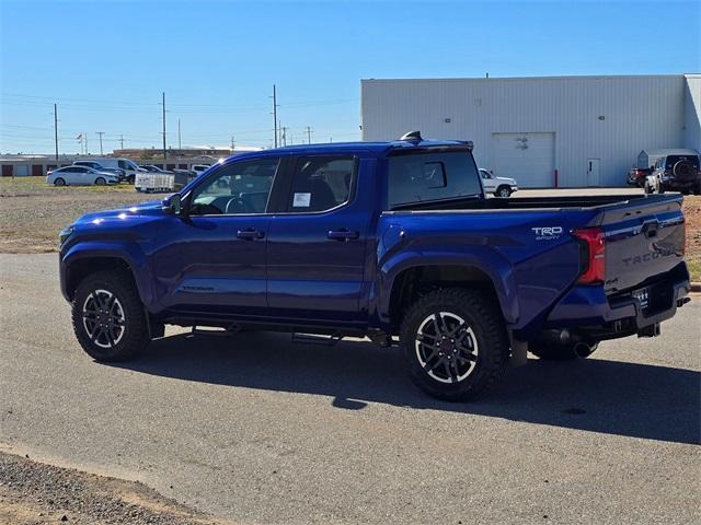
<svg viewBox="0 0 701 525">
<path fill-rule="evenodd" d="M 701 74 L 363 80 L 363 140 L 474 142 L 521 187 L 621 186 L 641 150 L 701 151 Z"/>
</svg>

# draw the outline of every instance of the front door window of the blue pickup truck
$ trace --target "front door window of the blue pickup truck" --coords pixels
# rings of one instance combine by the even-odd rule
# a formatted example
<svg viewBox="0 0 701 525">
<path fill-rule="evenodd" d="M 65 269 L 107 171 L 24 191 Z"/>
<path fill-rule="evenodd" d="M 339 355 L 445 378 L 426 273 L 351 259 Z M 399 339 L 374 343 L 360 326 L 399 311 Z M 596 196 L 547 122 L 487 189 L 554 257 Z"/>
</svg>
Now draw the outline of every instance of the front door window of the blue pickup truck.
<svg viewBox="0 0 701 525">
<path fill-rule="evenodd" d="M 265 213 L 279 159 L 234 162 L 217 170 L 193 192 L 189 213 Z"/>
</svg>

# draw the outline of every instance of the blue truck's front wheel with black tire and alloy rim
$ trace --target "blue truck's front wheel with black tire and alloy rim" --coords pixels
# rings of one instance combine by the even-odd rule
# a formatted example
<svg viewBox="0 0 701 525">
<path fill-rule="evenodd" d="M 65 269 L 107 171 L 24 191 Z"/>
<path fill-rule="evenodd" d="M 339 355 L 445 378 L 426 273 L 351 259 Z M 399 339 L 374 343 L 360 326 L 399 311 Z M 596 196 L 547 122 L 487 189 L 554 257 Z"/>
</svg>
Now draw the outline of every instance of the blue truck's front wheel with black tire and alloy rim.
<svg viewBox="0 0 701 525">
<path fill-rule="evenodd" d="M 115 298 L 111 306 L 110 301 L 104 301 L 107 294 Z M 105 306 L 104 311 L 99 310 L 101 305 Z M 107 310 L 110 312 L 100 318 L 99 312 Z M 85 314 L 87 311 L 90 313 Z M 123 317 L 123 320 L 113 325 L 113 319 L 117 317 Z M 111 326 L 110 329 L 113 331 L 102 329 L 101 320 L 107 322 L 105 326 Z M 131 276 L 125 271 L 102 270 L 83 279 L 73 295 L 72 323 L 78 342 L 97 361 L 130 359 L 141 352 L 150 341 L 143 304 Z M 93 327 L 91 337 L 89 328 Z"/>
</svg>

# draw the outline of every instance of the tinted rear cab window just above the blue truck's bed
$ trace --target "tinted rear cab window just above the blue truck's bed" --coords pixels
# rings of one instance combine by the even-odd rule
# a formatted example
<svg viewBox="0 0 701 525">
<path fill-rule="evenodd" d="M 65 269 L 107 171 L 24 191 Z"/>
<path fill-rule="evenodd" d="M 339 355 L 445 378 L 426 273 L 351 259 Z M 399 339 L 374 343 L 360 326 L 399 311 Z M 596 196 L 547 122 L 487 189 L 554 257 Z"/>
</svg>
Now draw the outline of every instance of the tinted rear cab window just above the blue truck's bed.
<svg viewBox="0 0 701 525">
<path fill-rule="evenodd" d="M 480 194 L 472 156 L 464 151 L 414 153 L 389 159 L 389 206 Z"/>
</svg>

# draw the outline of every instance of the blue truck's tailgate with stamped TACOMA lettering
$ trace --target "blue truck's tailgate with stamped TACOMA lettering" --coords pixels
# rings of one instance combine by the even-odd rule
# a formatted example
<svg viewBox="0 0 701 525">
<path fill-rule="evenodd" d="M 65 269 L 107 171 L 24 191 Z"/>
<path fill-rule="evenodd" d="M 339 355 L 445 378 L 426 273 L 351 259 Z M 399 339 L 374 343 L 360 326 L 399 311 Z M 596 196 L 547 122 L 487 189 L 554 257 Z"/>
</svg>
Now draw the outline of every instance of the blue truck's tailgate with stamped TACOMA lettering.
<svg viewBox="0 0 701 525">
<path fill-rule="evenodd" d="M 606 210 L 607 294 L 633 289 L 683 260 L 681 196 L 635 199 Z"/>
</svg>

